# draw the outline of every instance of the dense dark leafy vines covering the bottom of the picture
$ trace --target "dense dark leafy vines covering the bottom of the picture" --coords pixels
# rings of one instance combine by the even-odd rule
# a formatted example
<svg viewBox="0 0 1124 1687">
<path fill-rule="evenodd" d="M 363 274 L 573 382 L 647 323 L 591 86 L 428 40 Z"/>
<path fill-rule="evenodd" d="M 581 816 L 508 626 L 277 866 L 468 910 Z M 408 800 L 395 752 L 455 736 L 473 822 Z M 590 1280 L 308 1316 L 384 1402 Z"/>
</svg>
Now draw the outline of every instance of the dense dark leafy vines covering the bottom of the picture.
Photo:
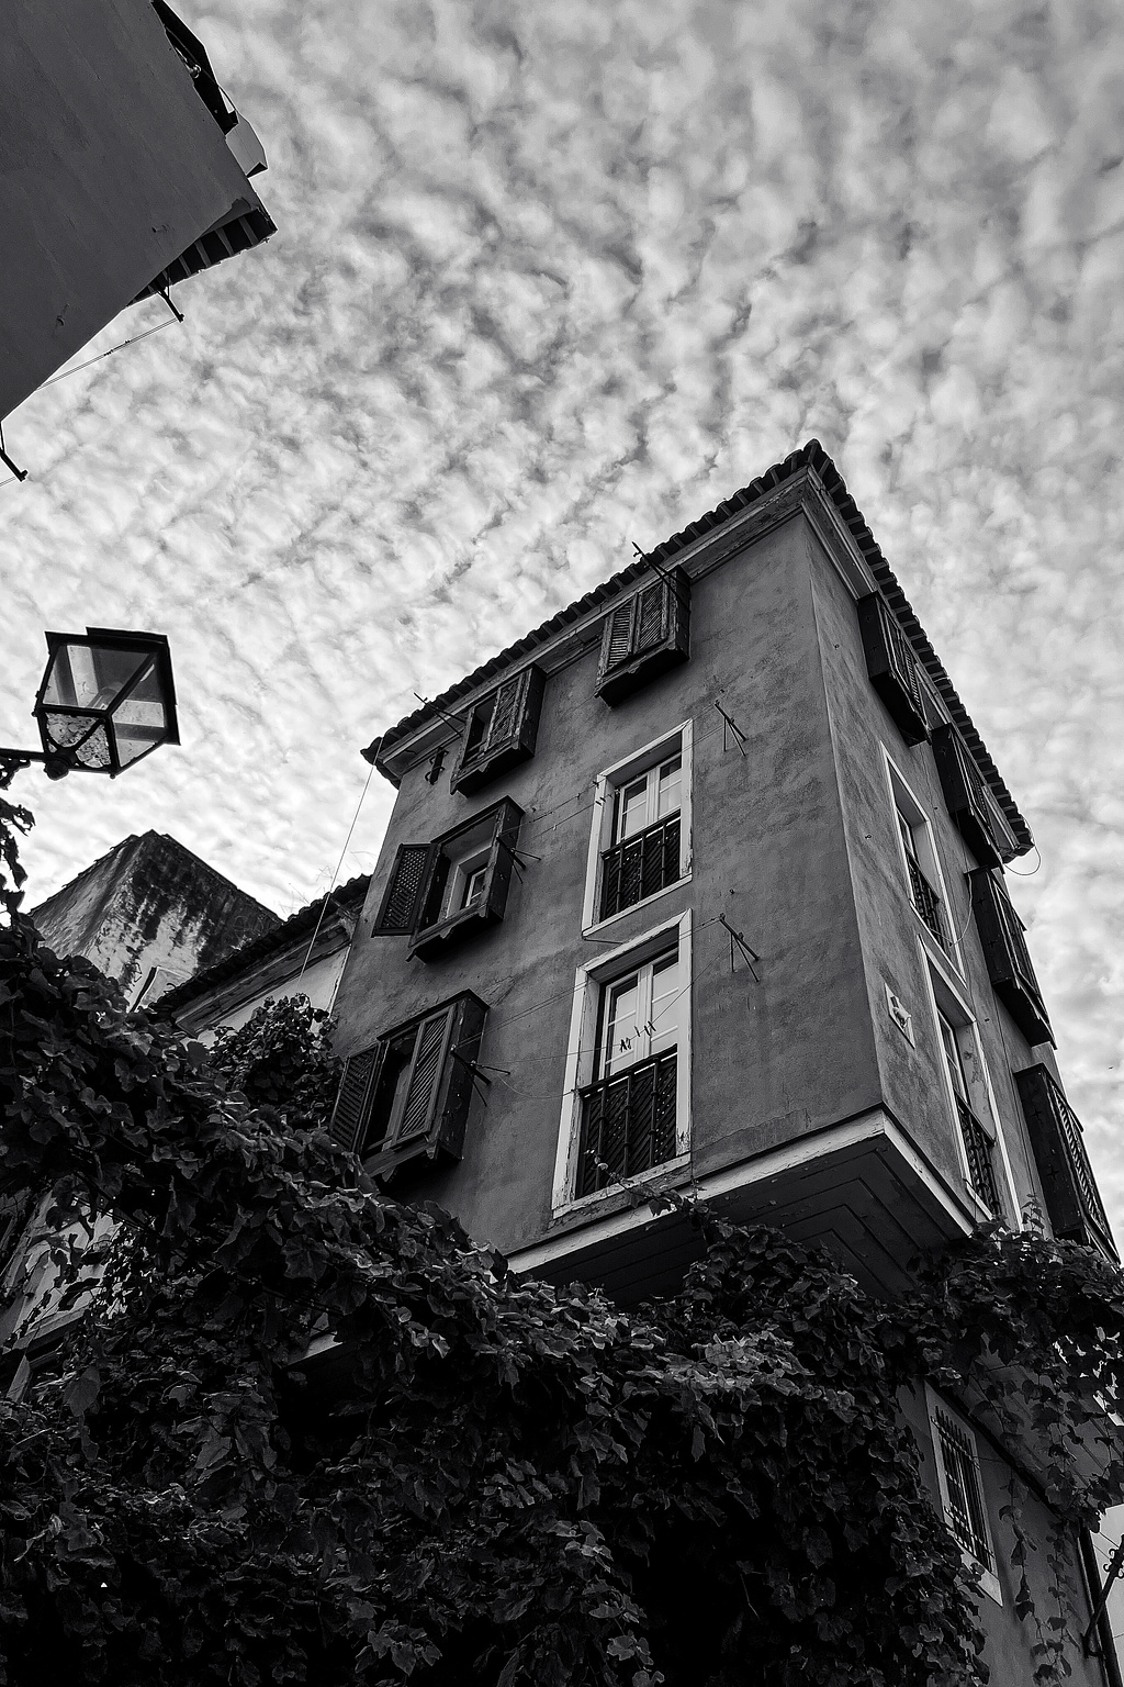
<svg viewBox="0 0 1124 1687">
<path fill-rule="evenodd" d="M 981 1233 L 888 1307 L 693 1213 L 671 1301 L 517 1280 L 335 1149 L 324 1031 L 280 1004 L 207 1054 L 0 926 L 2 1174 L 121 1220 L 0 1405 L 3 1680 L 986 1679 L 897 1393 L 977 1378 L 1090 1517 L 1121 1471 L 1090 1486 L 1067 1436 L 1119 1388 L 1117 1274 Z"/>
</svg>

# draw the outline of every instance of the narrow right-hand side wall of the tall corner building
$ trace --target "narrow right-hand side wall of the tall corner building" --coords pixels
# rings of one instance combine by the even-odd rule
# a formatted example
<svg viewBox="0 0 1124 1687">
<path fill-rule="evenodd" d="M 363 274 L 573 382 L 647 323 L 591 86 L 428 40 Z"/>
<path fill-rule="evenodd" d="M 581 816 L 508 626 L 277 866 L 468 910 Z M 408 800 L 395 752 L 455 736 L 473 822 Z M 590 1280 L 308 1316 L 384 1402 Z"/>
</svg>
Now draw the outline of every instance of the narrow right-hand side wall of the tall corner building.
<svg viewBox="0 0 1124 1687">
<path fill-rule="evenodd" d="M 954 968 L 954 984 L 959 984 L 979 1027 L 1018 1205 L 1021 1208 L 1028 1198 L 1041 1201 L 1026 1122 L 1011 1078 L 1011 1071 L 1031 1064 L 1033 1056 L 996 1000 L 988 977 L 964 877 L 977 862 L 949 818 L 932 746 L 905 744 L 866 678 L 854 602 L 822 553 L 814 570 L 814 589 L 883 1098 L 950 1186 L 964 1191 L 944 1056 L 925 980 L 925 951 L 940 960 L 940 950 L 912 908 L 886 774 L 888 754 L 932 825 L 949 896 L 949 924 L 959 936 L 964 968 L 962 975 Z M 912 1014 L 917 1048 L 890 1017 L 886 985 Z"/>
</svg>

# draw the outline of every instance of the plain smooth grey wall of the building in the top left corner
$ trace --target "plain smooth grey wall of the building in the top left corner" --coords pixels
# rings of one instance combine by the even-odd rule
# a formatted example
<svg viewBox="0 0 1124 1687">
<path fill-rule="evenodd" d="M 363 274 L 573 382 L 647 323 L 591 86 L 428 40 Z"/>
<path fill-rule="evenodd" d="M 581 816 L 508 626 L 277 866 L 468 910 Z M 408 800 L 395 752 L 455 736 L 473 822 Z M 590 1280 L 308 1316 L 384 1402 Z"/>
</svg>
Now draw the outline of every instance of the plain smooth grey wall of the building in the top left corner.
<svg viewBox="0 0 1124 1687">
<path fill-rule="evenodd" d="M 3 24 L 0 417 L 260 206 L 148 0 L 12 0 Z"/>
</svg>

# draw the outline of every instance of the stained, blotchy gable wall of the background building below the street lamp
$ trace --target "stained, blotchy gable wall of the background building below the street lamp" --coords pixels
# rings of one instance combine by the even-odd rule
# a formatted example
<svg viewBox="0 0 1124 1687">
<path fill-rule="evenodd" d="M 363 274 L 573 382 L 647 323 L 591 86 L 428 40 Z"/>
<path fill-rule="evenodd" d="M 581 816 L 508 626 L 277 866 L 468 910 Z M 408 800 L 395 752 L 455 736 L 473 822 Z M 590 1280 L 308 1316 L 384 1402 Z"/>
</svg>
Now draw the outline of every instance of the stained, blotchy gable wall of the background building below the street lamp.
<svg viewBox="0 0 1124 1687">
<path fill-rule="evenodd" d="M 153 967 L 187 977 L 280 921 L 175 838 L 123 838 L 86 872 L 30 909 L 59 955 L 84 955 L 130 1000 Z"/>
</svg>

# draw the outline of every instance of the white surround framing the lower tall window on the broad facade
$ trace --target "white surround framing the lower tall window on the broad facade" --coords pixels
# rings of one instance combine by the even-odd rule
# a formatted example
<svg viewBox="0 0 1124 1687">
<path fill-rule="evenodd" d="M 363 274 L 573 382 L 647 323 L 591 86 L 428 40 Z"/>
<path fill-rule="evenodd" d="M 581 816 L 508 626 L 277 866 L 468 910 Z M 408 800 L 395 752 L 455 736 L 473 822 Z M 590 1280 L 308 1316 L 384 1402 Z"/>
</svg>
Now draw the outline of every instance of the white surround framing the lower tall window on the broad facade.
<svg viewBox="0 0 1124 1687">
<path fill-rule="evenodd" d="M 593 1083 L 597 1061 L 597 1032 L 602 1009 L 602 990 L 645 962 L 654 960 L 671 948 L 674 935 L 679 951 L 679 990 L 684 1002 L 679 1021 L 679 1041 L 676 1043 L 676 1154 L 674 1159 L 661 1161 L 649 1171 L 637 1172 L 625 1183 L 613 1183 L 607 1189 L 595 1189 L 593 1194 L 573 1193 L 578 1174 L 578 1145 L 581 1137 L 581 1095 L 586 1083 Z M 561 1124 L 558 1130 L 558 1154 L 554 1157 L 554 1188 L 551 1194 L 551 1211 L 571 1213 L 593 1206 L 618 1194 L 622 1188 L 634 1188 L 654 1178 L 666 1178 L 691 1164 L 691 911 L 669 919 L 661 926 L 645 931 L 644 936 L 630 938 L 617 945 L 607 955 L 578 967 L 573 985 L 573 1012 L 570 1016 L 570 1043 L 566 1044 L 566 1075 L 561 1103 Z"/>
</svg>

